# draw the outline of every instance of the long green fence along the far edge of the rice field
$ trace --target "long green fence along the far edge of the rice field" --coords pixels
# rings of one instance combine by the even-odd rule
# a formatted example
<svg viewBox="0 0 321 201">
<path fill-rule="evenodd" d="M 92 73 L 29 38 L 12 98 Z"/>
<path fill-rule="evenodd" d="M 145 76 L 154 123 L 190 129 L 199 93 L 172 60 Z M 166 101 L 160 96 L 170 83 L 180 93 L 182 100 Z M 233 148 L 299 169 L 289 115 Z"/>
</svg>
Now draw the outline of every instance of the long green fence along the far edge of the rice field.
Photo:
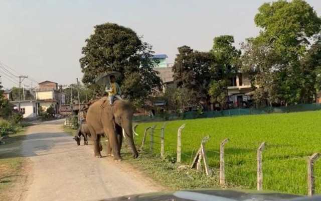
<svg viewBox="0 0 321 201">
<path fill-rule="evenodd" d="M 134 116 L 134 121 L 163 121 L 163 120 L 178 120 L 178 119 L 197 119 L 197 118 L 214 118 L 214 117 L 230 117 L 239 115 L 260 115 L 269 113 L 293 113 L 303 111 L 321 110 L 321 104 L 298 104 L 288 107 L 265 107 L 260 109 L 255 108 L 239 108 L 222 111 L 209 112 L 186 112 L 183 114 L 162 114 L 154 117 L 150 116 Z"/>
</svg>

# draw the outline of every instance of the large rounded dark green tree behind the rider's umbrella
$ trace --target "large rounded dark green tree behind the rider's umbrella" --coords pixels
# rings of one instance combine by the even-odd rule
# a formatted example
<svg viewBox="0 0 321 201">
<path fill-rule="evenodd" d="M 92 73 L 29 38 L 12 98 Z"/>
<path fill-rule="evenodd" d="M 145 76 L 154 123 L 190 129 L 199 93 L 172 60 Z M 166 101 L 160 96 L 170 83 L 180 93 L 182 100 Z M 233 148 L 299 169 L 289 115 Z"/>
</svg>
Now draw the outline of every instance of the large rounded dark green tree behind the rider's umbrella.
<svg viewBox="0 0 321 201">
<path fill-rule="evenodd" d="M 93 80 L 100 73 L 118 71 L 122 75 L 117 80 L 122 93 L 142 104 L 161 87 L 161 79 L 153 70 L 152 53 L 151 46 L 143 43 L 133 30 L 112 23 L 96 25 L 82 48 L 82 81 L 87 86 L 95 85 Z M 99 91 L 99 87 L 92 87 Z"/>
</svg>

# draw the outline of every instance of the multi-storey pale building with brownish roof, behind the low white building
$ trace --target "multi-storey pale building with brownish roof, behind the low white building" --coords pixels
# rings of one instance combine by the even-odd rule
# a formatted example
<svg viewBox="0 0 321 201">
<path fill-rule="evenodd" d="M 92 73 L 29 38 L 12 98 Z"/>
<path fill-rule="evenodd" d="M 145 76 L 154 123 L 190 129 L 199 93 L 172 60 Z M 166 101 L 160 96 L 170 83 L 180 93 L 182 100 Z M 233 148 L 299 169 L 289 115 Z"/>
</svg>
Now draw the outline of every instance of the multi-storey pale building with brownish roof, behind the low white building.
<svg viewBox="0 0 321 201">
<path fill-rule="evenodd" d="M 56 113 L 58 113 L 59 106 L 65 104 L 65 95 L 59 91 L 58 83 L 56 82 L 46 80 L 38 83 L 35 94 L 36 100 L 40 101 L 40 106 L 44 110 L 47 110 L 52 105 Z"/>
</svg>

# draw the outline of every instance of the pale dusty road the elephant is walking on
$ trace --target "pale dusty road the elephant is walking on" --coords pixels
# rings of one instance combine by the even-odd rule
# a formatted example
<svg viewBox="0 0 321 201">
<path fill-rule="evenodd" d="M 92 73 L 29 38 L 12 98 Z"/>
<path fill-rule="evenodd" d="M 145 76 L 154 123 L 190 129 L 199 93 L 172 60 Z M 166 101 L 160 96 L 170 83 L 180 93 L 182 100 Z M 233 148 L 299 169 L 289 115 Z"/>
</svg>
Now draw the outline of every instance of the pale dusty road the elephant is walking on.
<svg viewBox="0 0 321 201">
<path fill-rule="evenodd" d="M 77 146 L 62 120 L 29 127 L 22 154 L 33 170 L 23 200 L 99 200 L 159 191 L 124 161 L 95 158 L 92 146 Z M 83 141 L 82 141 L 83 142 Z"/>
</svg>

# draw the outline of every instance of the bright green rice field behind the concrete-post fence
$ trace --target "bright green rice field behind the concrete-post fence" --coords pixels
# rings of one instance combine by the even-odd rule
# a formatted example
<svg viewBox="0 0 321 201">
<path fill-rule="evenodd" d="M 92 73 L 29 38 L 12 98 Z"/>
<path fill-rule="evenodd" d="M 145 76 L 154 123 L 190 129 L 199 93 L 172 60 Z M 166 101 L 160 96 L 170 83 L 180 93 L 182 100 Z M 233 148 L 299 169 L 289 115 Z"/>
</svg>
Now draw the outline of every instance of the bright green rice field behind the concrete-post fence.
<svg viewBox="0 0 321 201">
<path fill-rule="evenodd" d="M 154 154 L 159 154 L 163 124 L 139 123 L 137 146 L 140 147 L 144 129 L 157 125 Z M 186 124 L 182 131 L 183 163 L 191 163 L 202 138 L 210 135 L 207 157 L 213 171 L 218 171 L 220 143 L 229 138 L 225 145 L 226 182 L 255 189 L 256 150 L 265 142 L 263 189 L 307 194 L 307 157 L 321 153 L 321 111 L 169 121 L 165 129 L 167 155 L 176 157 L 177 131 L 182 124 Z M 149 135 L 144 149 L 149 150 Z M 321 193 L 321 159 L 314 164 L 314 175 L 315 192 Z"/>
</svg>

